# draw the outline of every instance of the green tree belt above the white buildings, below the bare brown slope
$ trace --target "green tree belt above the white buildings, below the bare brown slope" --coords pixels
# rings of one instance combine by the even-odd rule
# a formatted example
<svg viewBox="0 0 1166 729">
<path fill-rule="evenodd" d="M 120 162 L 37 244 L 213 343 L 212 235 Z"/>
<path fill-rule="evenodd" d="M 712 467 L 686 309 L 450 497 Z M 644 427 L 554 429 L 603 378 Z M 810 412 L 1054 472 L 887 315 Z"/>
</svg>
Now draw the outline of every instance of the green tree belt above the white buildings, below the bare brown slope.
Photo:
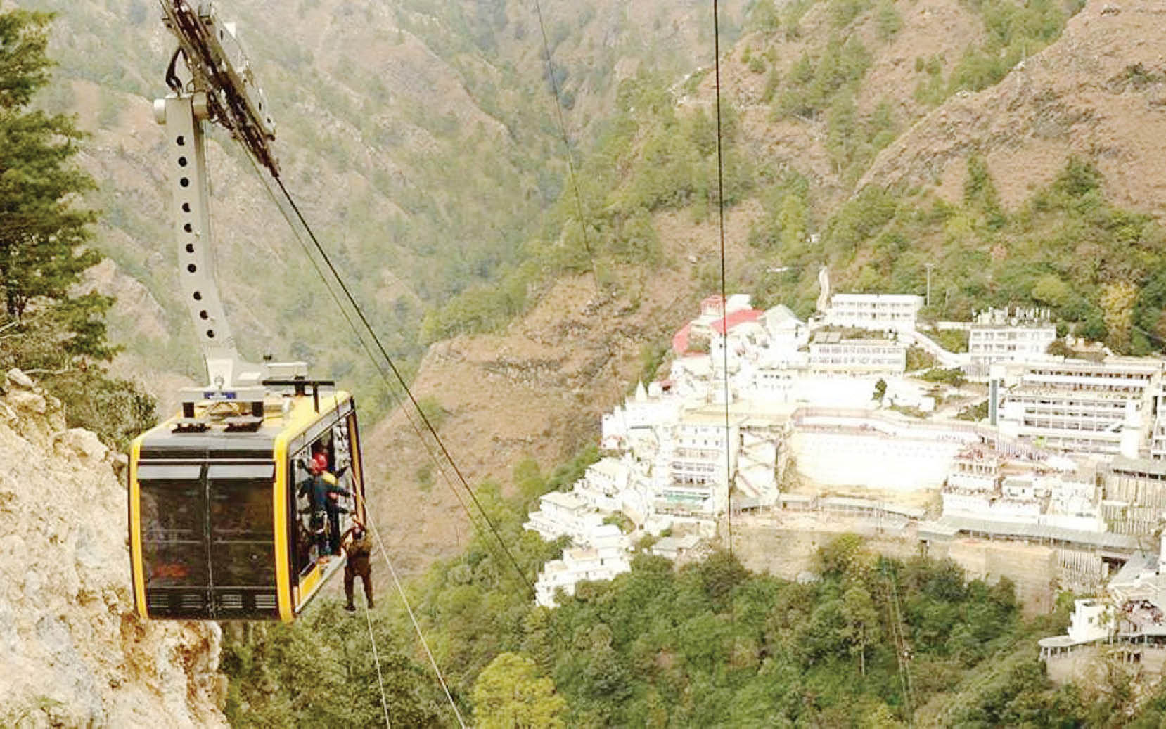
<svg viewBox="0 0 1166 729">
<path fill-rule="evenodd" d="M 1069 159 L 1014 212 L 1002 209 L 982 160 L 971 157 L 968 173 L 956 204 L 864 188 L 830 217 L 816 247 L 774 234 L 772 222 L 785 205 L 768 208 L 750 239 L 789 273 L 763 279 L 758 299 L 792 300 L 806 311 L 823 257 L 843 287 L 869 279 L 880 282 L 879 290 L 900 293 L 921 293 L 926 265 L 934 264 L 929 310 L 936 318 L 968 321 L 986 307 L 1035 306 L 1052 311 L 1059 331 L 1117 352 L 1144 355 L 1166 342 L 1166 232 L 1150 215 L 1110 204 L 1091 163 Z M 963 346 L 946 339 L 955 335 L 937 336 L 946 346 Z"/>
</svg>

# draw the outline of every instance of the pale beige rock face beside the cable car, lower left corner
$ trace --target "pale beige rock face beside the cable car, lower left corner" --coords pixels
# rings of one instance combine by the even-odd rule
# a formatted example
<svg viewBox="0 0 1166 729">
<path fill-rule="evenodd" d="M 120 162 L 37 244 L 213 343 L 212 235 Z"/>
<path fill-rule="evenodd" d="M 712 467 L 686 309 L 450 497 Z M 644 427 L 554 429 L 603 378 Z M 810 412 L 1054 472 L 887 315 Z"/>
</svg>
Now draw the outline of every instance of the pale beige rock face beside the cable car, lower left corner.
<svg viewBox="0 0 1166 729">
<path fill-rule="evenodd" d="M 133 612 L 115 454 L 35 388 L 0 398 L 0 726 L 226 726 L 218 625 Z"/>
</svg>

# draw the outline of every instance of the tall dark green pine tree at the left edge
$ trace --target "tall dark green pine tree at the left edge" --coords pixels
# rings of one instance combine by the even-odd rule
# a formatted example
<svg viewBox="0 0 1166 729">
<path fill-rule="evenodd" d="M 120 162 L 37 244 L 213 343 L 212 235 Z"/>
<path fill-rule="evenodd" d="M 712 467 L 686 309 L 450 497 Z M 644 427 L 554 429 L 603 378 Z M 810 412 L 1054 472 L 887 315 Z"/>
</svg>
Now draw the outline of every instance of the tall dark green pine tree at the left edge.
<svg viewBox="0 0 1166 729">
<path fill-rule="evenodd" d="M 112 300 L 70 296 L 100 260 L 86 247 L 97 213 L 77 204 L 94 187 L 73 161 L 84 134 L 71 117 L 30 108 L 50 79 L 51 21 L 48 13 L 0 13 L 0 297 L 9 318 L 33 309 L 55 318 L 62 351 L 106 358 Z"/>
</svg>

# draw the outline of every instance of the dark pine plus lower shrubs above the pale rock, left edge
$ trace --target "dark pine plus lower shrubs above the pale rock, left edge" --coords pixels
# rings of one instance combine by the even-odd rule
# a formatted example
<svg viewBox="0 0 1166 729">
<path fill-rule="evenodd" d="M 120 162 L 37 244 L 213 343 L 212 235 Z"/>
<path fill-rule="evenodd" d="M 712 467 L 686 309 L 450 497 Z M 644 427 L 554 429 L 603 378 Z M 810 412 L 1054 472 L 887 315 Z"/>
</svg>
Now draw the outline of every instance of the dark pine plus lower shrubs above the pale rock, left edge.
<svg viewBox="0 0 1166 729">
<path fill-rule="evenodd" d="M 124 446 L 153 421 L 154 401 L 92 366 L 117 351 L 105 322 L 113 299 L 78 287 L 101 259 L 90 245 L 97 212 L 83 201 L 96 184 L 76 161 L 85 135 L 73 118 L 33 107 L 51 79 L 51 21 L 0 12 L 0 369 L 43 376 L 70 426 Z"/>
</svg>

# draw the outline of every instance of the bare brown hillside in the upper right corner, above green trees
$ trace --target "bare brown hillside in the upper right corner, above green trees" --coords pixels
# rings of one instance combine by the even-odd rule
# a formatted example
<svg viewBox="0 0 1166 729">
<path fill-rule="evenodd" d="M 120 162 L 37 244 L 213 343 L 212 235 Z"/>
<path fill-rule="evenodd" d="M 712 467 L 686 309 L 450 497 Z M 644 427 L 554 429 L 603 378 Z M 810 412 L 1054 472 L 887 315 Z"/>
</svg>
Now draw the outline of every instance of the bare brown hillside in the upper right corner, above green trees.
<svg viewBox="0 0 1166 729">
<path fill-rule="evenodd" d="M 1166 7 L 1091 0 L 1061 38 L 999 84 L 961 94 L 878 156 L 864 184 L 934 187 L 958 197 L 982 155 L 1005 205 L 1047 184 L 1076 154 L 1118 205 L 1163 217 L 1166 195 Z"/>
</svg>

